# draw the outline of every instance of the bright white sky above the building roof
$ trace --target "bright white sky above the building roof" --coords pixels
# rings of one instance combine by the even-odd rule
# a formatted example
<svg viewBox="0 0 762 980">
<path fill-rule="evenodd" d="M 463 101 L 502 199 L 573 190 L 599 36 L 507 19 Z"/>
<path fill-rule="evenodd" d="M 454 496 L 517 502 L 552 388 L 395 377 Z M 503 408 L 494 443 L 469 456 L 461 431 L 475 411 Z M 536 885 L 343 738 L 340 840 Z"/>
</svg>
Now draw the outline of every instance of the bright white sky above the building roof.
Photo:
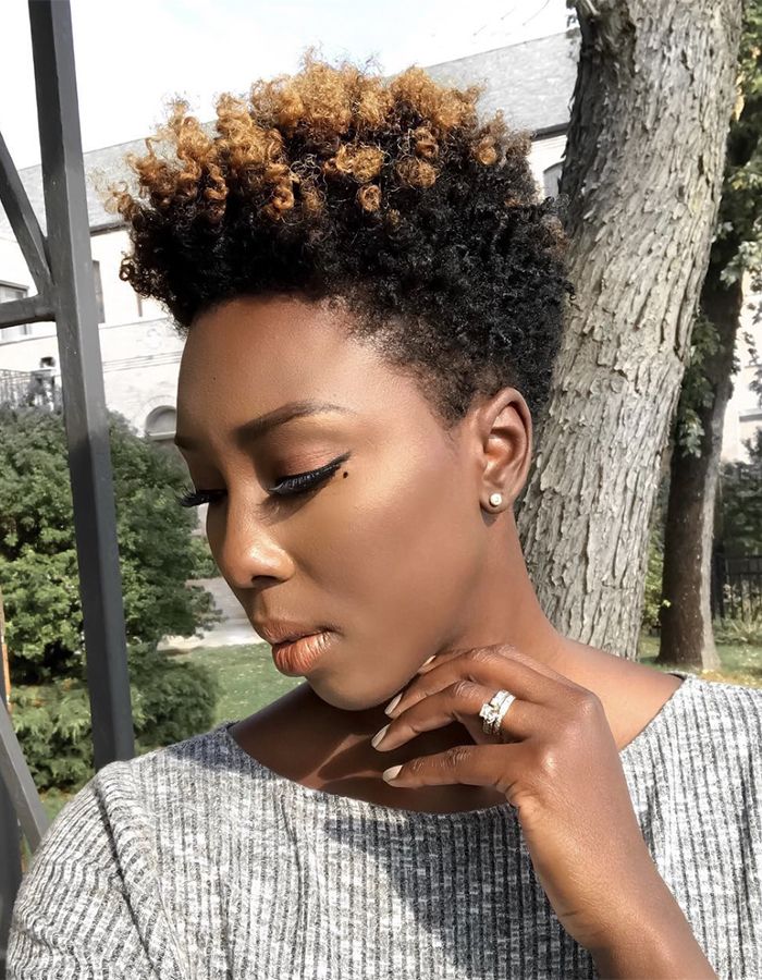
<svg viewBox="0 0 762 980">
<path fill-rule="evenodd" d="M 58 0 L 63 2 L 63 0 Z M 384 74 L 564 30 L 566 0 L 71 0 L 83 150 L 137 139 L 175 95 L 201 120 L 214 96 L 329 59 Z M 27 0 L 2 2 L 0 133 L 17 169 L 39 163 Z"/>
</svg>

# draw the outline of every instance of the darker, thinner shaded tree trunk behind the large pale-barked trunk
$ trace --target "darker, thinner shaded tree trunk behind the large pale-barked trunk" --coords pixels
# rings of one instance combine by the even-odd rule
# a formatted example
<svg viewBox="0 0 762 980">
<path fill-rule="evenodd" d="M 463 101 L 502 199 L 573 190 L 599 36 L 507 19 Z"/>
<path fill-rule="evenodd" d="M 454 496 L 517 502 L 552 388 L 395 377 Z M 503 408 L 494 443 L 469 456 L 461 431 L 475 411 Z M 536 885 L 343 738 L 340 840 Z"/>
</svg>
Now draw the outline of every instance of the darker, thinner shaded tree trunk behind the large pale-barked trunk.
<svg viewBox="0 0 762 980">
<path fill-rule="evenodd" d="M 696 412 L 703 428 L 701 455 L 672 456 L 669 501 L 664 526 L 661 639 L 657 663 L 678 663 L 708 671 L 720 669 L 712 633 L 710 588 L 714 504 L 720 475 L 725 409 L 733 394 L 733 359 L 743 291 L 740 280 L 720 281 L 720 265 L 710 266 L 701 292 L 701 308 L 717 329 L 720 344 L 706 358 L 703 373 L 714 397 Z"/>
</svg>

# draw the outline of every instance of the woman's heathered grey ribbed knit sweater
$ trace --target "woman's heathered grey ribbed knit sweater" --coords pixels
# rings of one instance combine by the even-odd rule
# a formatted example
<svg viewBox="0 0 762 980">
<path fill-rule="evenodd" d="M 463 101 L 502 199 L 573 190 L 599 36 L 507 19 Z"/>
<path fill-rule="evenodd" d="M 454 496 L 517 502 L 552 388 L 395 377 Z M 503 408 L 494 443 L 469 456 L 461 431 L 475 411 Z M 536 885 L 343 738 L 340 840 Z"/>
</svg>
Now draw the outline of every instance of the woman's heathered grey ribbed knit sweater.
<svg viewBox="0 0 762 980">
<path fill-rule="evenodd" d="M 632 804 L 718 976 L 760 980 L 762 690 L 674 673 L 620 754 Z M 112 762 L 69 801 L 22 882 L 9 980 L 598 976 L 507 801 L 421 813 L 311 789 L 232 724 Z"/>
</svg>

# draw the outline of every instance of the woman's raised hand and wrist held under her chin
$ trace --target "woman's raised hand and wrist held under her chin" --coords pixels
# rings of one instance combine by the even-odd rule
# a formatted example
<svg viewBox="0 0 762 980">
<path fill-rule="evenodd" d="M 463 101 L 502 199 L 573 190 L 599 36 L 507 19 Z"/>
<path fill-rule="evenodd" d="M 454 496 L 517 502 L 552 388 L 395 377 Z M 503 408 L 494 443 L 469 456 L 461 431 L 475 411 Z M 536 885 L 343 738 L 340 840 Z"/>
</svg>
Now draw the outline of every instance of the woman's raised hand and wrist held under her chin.
<svg viewBox="0 0 762 980">
<path fill-rule="evenodd" d="M 501 724 L 506 742 L 486 734 L 479 718 L 501 688 L 516 696 Z M 465 725 L 476 745 L 411 759 L 389 782 L 466 783 L 505 794 L 518 810 L 538 880 L 580 945 L 611 948 L 659 921 L 671 893 L 638 825 L 597 695 L 514 647 L 495 645 L 439 654 L 388 713 L 393 721 L 379 751 L 454 720 Z"/>
</svg>

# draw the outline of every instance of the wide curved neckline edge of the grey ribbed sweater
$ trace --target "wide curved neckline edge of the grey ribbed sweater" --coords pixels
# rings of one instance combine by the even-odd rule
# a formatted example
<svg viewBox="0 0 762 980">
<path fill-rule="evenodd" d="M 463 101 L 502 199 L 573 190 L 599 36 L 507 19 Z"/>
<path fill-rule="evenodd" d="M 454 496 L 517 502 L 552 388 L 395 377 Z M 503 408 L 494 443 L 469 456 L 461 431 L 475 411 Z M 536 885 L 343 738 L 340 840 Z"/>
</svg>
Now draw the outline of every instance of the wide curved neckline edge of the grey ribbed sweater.
<svg viewBox="0 0 762 980">
<path fill-rule="evenodd" d="M 642 728 L 631 742 L 628 742 L 627 745 L 619 750 L 619 759 L 622 760 L 622 764 L 625 770 L 628 768 L 628 765 L 631 764 L 632 757 L 640 751 L 643 745 L 659 736 L 660 732 L 666 724 L 668 716 L 675 711 L 675 707 L 679 706 L 679 703 L 685 698 L 685 693 L 688 689 L 688 685 L 700 682 L 701 679 L 696 674 L 690 673 L 689 671 L 678 670 L 668 671 L 668 673 L 675 677 L 681 677 L 683 684 L 680 684 L 679 687 L 675 688 L 675 690 L 662 706 L 659 713 L 651 719 L 646 727 Z M 328 807 L 339 816 L 362 816 L 377 820 L 398 820 L 428 824 L 468 823 L 478 819 L 479 817 L 490 819 L 493 817 L 497 818 L 501 816 L 511 816 L 515 818 L 516 808 L 513 807 L 507 799 L 504 804 L 495 804 L 491 807 L 481 807 L 475 810 L 429 812 L 427 810 L 410 810 L 403 807 L 386 807 L 383 804 L 370 803 L 370 800 L 366 799 L 357 799 L 354 796 L 341 796 L 337 793 L 327 793 L 324 789 L 316 789 L 312 786 L 305 786 L 303 783 L 297 783 L 295 780 L 290 780 L 287 776 L 282 775 L 280 772 L 275 772 L 274 769 L 270 769 L 269 765 L 260 762 L 259 759 L 255 759 L 254 756 L 249 756 L 249 754 L 238 745 L 235 738 L 233 738 L 229 731 L 234 724 L 237 724 L 238 721 L 239 719 L 223 721 L 214 728 L 212 728 L 210 734 L 212 736 L 221 736 L 224 739 L 224 743 L 226 744 L 232 757 L 243 763 L 245 768 L 257 773 L 260 777 L 263 776 L 268 782 L 272 783 L 273 786 L 280 787 L 284 793 L 290 793 L 302 799 L 306 799 L 314 804 L 319 804 L 321 806 Z"/>
</svg>

